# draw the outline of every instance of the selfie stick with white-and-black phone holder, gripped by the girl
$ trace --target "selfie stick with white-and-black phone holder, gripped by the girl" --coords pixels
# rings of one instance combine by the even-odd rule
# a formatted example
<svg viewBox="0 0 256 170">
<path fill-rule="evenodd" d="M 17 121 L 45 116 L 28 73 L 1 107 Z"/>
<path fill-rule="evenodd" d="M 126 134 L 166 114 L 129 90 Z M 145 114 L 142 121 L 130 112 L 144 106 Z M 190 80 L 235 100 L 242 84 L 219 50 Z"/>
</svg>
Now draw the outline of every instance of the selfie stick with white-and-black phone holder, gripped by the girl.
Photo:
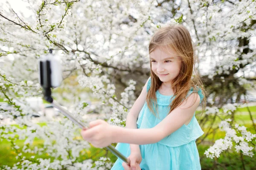
<svg viewBox="0 0 256 170">
<path fill-rule="evenodd" d="M 59 104 L 53 101 L 51 96 L 51 87 L 58 87 L 62 81 L 61 74 L 61 64 L 57 58 L 52 54 L 52 49 L 49 50 L 50 54 L 46 55 L 44 58 L 38 60 L 38 71 L 39 71 L 39 83 L 43 87 L 44 100 L 52 104 L 53 107 L 59 109 L 63 115 L 77 124 L 81 129 L 88 128 L 83 122 L 72 115 L 68 110 L 61 107 Z M 127 164 L 130 164 L 128 160 L 122 153 L 116 150 L 112 145 L 106 147 L 115 156 L 119 157 Z"/>
</svg>

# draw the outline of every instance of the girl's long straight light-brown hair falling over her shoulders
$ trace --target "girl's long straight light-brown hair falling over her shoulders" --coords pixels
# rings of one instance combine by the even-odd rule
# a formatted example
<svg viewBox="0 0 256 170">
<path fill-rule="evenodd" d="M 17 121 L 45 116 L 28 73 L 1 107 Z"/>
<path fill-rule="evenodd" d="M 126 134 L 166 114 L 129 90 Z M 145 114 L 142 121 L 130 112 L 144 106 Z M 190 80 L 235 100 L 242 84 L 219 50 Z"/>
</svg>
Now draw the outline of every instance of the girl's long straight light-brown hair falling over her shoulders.
<svg viewBox="0 0 256 170">
<path fill-rule="evenodd" d="M 189 89 L 192 87 L 195 92 L 198 87 L 201 88 L 202 94 L 205 96 L 205 90 L 196 68 L 197 57 L 195 56 L 195 45 L 191 39 L 189 31 L 181 24 L 169 25 L 159 29 L 151 38 L 148 46 L 149 54 L 158 47 L 172 48 L 177 55 L 181 58 L 180 73 L 172 81 L 173 97 L 172 102 L 169 105 L 170 112 L 178 107 L 183 100 L 187 99 Z M 150 62 L 150 68 L 151 62 Z M 192 73 L 194 75 L 192 78 Z M 157 108 L 157 98 L 155 92 L 160 88 L 162 81 L 154 74 L 151 69 L 151 87 L 147 93 L 147 106 L 151 112 L 155 115 L 153 107 Z M 194 103 L 197 98 L 194 98 Z M 154 101 L 154 102 L 153 102 Z M 204 97 L 205 107 L 206 99 Z M 153 106 L 153 103 L 155 105 Z M 157 111 L 157 109 L 156 109 Z M 158 112 L 157 112 L 158 113 Z"/>
</svg>

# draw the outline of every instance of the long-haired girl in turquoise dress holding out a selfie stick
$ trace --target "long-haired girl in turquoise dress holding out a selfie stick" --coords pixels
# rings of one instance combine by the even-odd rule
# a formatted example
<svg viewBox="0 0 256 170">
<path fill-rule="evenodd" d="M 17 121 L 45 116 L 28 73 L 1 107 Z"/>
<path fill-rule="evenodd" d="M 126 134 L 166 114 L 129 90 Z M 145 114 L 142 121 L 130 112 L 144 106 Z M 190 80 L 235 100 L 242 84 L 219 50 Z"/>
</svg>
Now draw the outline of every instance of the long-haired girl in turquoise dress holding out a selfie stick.
<svg viewBox="0 0 256 170">
<path fill-rule="evenodd" d="M 118 158 L 111 170 L 200 170 L 195 140 L 204 132 L 195 110 L 204 89 L 188 30 L 182 25 L 160 29 L 149 55 L 151 77 L 127 115 L 126 128 L 96 120 L 81 135 L 95 147 L 119 142 L 116 149 L 131 164 Z"/>
</svg>

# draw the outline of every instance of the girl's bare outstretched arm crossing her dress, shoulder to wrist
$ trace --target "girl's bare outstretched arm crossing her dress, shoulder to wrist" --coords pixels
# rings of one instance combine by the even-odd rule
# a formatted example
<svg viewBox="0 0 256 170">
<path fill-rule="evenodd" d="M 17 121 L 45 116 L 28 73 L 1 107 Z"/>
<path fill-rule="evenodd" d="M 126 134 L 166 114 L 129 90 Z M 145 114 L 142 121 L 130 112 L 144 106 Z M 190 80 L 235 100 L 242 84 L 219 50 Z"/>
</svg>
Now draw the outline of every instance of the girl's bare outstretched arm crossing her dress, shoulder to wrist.
<svg viewBox="0 0 256 170">
<path fill-rule="evenodd" d="M 197 96 L 195 96 L 197 95 Z M 197 98 L 193 104 L 194 97 Z M 171 133 L 178 130 L 194 114 L 200 103 L 198 94 L 193 93 L 187 101 L 184 101 L 179 107 L 174 109 L 159 124 L 150 129 L 125 129 L 115 127 L 113 138 L 115 142 L 130 144 L 152 144 L 156 143 Z"/>
</svg>

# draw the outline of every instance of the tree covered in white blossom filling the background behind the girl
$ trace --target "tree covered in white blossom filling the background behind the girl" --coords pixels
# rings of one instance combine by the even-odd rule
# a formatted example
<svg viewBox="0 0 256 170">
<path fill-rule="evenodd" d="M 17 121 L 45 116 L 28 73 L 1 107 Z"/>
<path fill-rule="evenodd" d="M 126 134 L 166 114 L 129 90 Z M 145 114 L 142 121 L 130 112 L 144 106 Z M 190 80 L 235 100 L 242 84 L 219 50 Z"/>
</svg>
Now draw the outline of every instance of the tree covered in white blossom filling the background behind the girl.
<svg viewBox="0 0 256 170">
<path fill-rule="evenodd" d="M 2 168 L 110 169 L 112 162 L 106 156 L 97 161 L 79 159 L 90 145 L 78 138 L 79 127 L 67 118 L 41 118 L 45 126 L 33 123 L 31 115 L 38 110 L 30 107 L 26 98 L 41 96 L 38 58 L 49 49 L 61 57 L 64 82 L 53 89 L 53 96 L 74 115 L 87 114 L 87 104 L 78 103 L 85 100 L 85 89 L 90 89 L 89 93 L 100 103 L 96 107 L 99 118 L 125 126 L 128 110 L 150 73 L 151 36 L 165 24 L 182 23 L 195 42 L 198 68 L 207 88 L 206 112 L 199 119 L 205 134 L 198 144 L 213 136 L 205 158 L 215 158 L 217 167 L 221 153 L 231 150 L 240 154 L 245 169 L 243 157 L 255 153 L 256 126 L 250 110 L 252 129 L 236 124 L 234 118 L 241 98 L 246 102 L 247 90 L 255 88 L 255 74 L 251 74 L 256 58 L 254 0 L 16 3 L 0 2 L 0 98 L 10 106 L 0 106 L 0 114 L 19 125 L 0 124 L 1 141 L 10 142 L 17 153 L 17 163 Z M 215 140 L 218 129 L 225 132 L 225 137 Z M 42 147 L 32 147 L 35 138 L 44 140 Z M 17 140 L 25 140 L 22 148 Z M 47 153 L 52 160 L 28 157 L 26 153 Z"/>
</svg>

